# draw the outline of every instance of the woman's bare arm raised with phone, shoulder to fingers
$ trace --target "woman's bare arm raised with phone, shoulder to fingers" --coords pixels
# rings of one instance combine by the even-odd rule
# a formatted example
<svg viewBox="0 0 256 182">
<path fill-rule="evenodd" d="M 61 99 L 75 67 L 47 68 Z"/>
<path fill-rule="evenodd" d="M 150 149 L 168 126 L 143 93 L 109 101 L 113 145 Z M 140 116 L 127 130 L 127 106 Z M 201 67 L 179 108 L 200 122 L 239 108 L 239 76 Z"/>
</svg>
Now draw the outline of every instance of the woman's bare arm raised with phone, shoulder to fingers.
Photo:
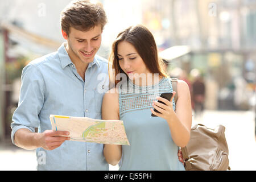
<svg viewBox="0 0 256 182">
<path fill-rule="evenodd" d="M 151 109 L 151 112 L 166 120 L 174 143 L 177 146 L 185 147 L 190 139 L 192 122 L 190 93 L 185 81 L 178 80 L 177 92 L 180 94 L 179 97 L 177 97 L 175 111 L 172 103 L 176 92 L 173 92 L 173 96 L 170 101 L 162 97 L 157 97 L 156 99 L 162 101 L 163 104 L 154 101 L 152 105 L 154 109 L 158 110 L 160 113 L 155 112 L 153 109 Z"/>
</svg>

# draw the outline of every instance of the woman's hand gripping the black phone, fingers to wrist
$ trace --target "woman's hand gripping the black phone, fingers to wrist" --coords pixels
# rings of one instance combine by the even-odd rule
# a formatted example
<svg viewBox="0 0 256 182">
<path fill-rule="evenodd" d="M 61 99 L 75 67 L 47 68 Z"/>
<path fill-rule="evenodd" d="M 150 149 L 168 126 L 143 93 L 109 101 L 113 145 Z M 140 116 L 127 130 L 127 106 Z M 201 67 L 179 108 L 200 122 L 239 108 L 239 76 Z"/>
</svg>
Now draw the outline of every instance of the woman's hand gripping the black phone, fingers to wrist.
<svg viewBox="0 0 256 182">
<path fill-rule="evenodd" d="M 172 100 L 175 96 L 176 92 L 173 92 L 171 101 L 168 101 L 167 99 L 163 98 L 163 97 L 156 97 L 157 100 L 162 101 L 164 104 L 158 102 L 158 101 L 153 101 L 152 106 L 154 107 L 154 109 L 158 110 L 160 113 L 156 113 L 153 109 L 150 109 L 151 112 L 155 115 L 157 115 L 158 117 L 161 117 L 163 119 L 166 119 L 166 121 L 168 121 L 168 119 L 172 118 L 172 115 L 175 113 L 174 109 L 172 109 Z"/>
</svg>

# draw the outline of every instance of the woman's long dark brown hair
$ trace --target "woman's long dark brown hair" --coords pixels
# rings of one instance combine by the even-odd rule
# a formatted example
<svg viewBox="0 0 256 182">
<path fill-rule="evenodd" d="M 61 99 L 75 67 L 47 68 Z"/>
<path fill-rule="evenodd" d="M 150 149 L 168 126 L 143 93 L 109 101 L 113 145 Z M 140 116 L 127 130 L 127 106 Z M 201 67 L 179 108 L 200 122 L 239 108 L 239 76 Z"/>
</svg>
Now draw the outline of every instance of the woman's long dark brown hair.
<svg viewBox="0 0 256 182">
<path fill-rule="evenodd" d="M 114 75 L 118 73 L 125 73 L 118 62 L 117 46 L 119 42 L 126 41 L 131 43 L 137 50 L 139 56 L 141 56 L 144 64 L 151 73 L 158 73 L 159 76 L 168 77 L 167 73 L 164 72 L 163 61 L 158 57 L 158 49 L 156 47 L 154 36 L 151 32 L 142 25 L 131 26 L 120 32 L 117 39 L 112 44 L 112 53 L 109 57 L 109 69 L 112 64 L 114 69 Z M 109 77 L 112 80 L 111 71 L 109 70 Z M 113 80 L 112 80 L 113 81 Z M 119 80 L 115 79 L 115 85 Z"/>
</svg>

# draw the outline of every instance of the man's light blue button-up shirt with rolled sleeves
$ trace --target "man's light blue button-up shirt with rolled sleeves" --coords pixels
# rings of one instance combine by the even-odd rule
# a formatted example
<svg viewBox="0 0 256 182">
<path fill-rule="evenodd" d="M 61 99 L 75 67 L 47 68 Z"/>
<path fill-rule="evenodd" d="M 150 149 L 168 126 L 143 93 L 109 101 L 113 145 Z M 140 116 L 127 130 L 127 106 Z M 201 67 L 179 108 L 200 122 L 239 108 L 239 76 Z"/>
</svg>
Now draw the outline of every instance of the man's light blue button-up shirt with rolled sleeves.
<svg viewBox="0 0 256 182">
<path fill-rule="evenodd" d="M 19 105 L 13 114 L 11 139 L 19 129 L 51 130 L 50 114 L 101 119 L 101 104 L 109 89 L 108 61 L 95 56 L 85 72 L 77 73 L 64 44 L 33 60 L 22 72 Z M 52 151 L 36 149 L 38 170 L 109 170 L 103 144 L 65 141 Z"/>
</svg>

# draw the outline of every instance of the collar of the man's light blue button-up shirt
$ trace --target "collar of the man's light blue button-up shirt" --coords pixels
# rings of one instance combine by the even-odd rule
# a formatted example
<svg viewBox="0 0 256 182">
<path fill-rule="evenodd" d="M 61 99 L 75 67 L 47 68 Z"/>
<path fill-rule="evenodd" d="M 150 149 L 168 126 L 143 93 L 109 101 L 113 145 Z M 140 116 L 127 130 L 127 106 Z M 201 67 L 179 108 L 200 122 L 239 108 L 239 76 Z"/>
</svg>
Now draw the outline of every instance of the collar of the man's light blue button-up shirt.
<svg viewBox="0 0 256 182">
<path fill-rule="evenodd" d="M 67 44 L 67 43 L 61 44 L 61 46 L 58 49 L 58 55 L 60 57 L 60 64 L 63 69 L 65 67 L 67 67 L 67 65 L 73 64 L 73 62 L 71 61 L 71 59 L 68 55 L 67 50 L 65 49 L 65 44 Z M 94 64 L 96 64 L 98 66 L 98 68 L 100 68 L 100 63 L 98 62 L 96 56 L 94 56 L 92 63 L 89 63 L 88 68 L 92 67 Z"/>
</svg>

